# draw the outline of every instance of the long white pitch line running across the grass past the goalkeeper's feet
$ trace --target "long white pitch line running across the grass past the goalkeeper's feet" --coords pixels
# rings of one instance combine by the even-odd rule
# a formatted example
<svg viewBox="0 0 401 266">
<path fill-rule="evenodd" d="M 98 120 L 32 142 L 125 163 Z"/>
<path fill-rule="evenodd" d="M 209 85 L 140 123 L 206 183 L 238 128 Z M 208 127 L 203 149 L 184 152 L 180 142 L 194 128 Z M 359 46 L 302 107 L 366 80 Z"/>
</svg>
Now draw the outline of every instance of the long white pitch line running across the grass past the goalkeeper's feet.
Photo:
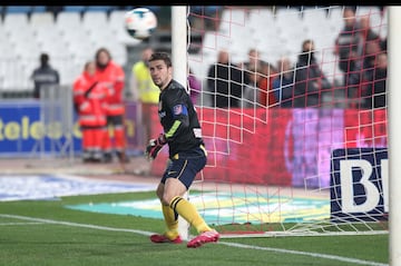
<svg viewBox="0 0 401 266">
<path fill-rule="evenodd" d="M 78 224 L 78 223 L 72 223 L 72 221 L 33 218 L 33 217 L 19 216 L 19 215 L 0 214 L 0 217 L 31 220 L 31 221 L 46 223 L 46 224 L 55 224 L 55 225 L 85 227 L 85 228 L 91 228 L 91 229 L 98 229 L 98 230 L 127 231 L 127 233 L 135 233 L 138 235 L 145 235 L 145 236 L 150 236 L 151 234 L 154 234 L 151 231 L 146 231 L 146 230 L 115 228 L 115 227 L 97 226 L 97 225 L 89 225 L 89 224 Z M 324 258 L 324 259 L 340 260 L 343 263 L 353 263 L 353 264 L 359 264 L 359 265 L 389 266 L 389 264 L 381 264 L 381 263 L 375 263 L 375 262 L 369 262 L 369 260 L 356 259 L 356 258 L 348 258 L 348 257 L 341 257 L 341 256 L 335 256 L 335 255 L 326 255 L 326 254 L 320 254 L 320 253 L 306 253 L 306 252 L 297 252 L 297 250 L 283 249 L 283 248 L 260 247 L 260 246 L 238 244 L 238 243 L 228 243 L 228 242 L 222 242 L 222 240 L 218 242 L 217 244 L 229 246 L 229 247 L 239 247 L 239 248 L 266 250 L 266 252 L 274 252 L 274 253 L 284 253 L 284 254 L 302 255 L 302 256 L 310 256 L 310 257 L 319 257 L 319 258 Z"/>
</svg>

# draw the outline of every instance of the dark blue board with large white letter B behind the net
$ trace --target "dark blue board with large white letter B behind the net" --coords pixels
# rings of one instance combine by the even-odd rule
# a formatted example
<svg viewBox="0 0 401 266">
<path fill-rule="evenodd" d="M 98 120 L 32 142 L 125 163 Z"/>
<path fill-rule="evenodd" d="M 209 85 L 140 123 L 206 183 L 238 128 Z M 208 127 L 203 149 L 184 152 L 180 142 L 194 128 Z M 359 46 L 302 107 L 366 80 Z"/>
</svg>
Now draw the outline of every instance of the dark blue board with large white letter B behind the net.
<svg viewBox="0 0 401 266">
<path fill-rule="evenodd" d="M 387 220 L 388 149 L 335 149 L 331 161 L 331 220 Z"/>
</svg>

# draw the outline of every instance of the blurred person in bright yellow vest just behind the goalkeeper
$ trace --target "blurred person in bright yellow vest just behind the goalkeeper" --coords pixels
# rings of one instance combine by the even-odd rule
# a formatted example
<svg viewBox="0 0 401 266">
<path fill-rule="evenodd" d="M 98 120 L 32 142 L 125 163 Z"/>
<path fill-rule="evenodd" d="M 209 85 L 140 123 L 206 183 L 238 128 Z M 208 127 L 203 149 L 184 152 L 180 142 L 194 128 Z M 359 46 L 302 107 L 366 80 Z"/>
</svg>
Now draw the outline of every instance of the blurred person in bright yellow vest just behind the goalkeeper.
<svg viewBox="0 0 401 266">
<path fill-rule="evenodd" d="M 149 62 L 154 50 L 150 47 L 141 51 L 140 60 L 135 62 L 131 70 L 131 92 L 134 100 L 139 105 L 140 125 L 144 129 L 143 146 L 146 147 L 151 134 L 153 107 L 158 104 L 160 89 L 154 83 L 150 77 Z"/>
</svg>

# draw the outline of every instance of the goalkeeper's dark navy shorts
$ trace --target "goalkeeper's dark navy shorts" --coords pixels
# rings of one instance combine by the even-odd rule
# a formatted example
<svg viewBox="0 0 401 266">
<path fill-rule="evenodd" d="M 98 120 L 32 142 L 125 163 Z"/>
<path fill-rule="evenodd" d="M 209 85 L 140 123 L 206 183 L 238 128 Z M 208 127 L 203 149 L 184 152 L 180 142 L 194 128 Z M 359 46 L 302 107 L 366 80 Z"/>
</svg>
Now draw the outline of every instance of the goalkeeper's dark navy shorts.
<svg viewBox="0 0 401 266">
<path fill-rule="evenodd" d="M 179 152 L 168 159 L 167 168 L 160 183 L 165 184 L 167 178 L 177 178 L 188 189 L 196 174 L 205 167 L 206 161 L 207 154 L 204 147 L 195 148 L 189 152 Z"/>
</svg>

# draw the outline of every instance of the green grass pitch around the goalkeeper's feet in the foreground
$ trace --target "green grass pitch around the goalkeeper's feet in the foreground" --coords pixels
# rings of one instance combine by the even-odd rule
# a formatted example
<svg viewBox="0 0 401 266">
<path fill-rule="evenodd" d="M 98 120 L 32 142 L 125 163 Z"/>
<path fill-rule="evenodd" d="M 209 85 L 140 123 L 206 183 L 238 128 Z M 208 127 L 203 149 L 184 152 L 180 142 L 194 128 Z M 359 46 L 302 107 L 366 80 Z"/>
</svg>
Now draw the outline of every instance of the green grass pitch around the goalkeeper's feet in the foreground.
<svg viewBox="0 0 401 266">
<path fill-rule="evenodd" d="M 389 265 L 389 235 L 222 238 L 217 244 L 153 244 L 163 220 L 68 209 L 140 200 L 151 193 L 0 203 L 0 265 L 348 266 Z"/>
</svg>

